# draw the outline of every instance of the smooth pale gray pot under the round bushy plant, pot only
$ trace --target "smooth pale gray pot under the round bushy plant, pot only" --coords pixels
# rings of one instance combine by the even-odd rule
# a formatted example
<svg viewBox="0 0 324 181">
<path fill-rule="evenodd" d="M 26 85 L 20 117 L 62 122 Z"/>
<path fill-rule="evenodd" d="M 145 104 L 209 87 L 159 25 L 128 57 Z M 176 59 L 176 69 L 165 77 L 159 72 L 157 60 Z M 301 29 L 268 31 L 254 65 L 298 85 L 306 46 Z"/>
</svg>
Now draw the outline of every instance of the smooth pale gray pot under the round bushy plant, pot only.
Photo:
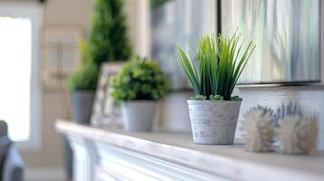
<svg viewBox="0 0 324 181">
<path fill-rule="evenodd" d="M 123 102 L 124 129 L 151 131 L 158 101 L 132 100 Z"/>
</svg>

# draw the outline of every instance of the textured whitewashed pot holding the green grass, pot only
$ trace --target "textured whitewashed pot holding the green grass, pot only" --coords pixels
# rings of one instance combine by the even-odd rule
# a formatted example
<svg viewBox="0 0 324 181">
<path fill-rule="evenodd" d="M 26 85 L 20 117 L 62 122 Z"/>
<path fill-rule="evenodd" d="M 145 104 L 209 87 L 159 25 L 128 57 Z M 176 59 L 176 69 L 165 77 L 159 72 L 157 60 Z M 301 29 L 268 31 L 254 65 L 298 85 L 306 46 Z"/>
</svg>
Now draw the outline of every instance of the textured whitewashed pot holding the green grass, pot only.
<svg viewBox="0 0 324 181">
<path fill-rule="evenodd" d="M 241 101 L 188 100 L 195 144 L 231 145 Z"/>
</svg>

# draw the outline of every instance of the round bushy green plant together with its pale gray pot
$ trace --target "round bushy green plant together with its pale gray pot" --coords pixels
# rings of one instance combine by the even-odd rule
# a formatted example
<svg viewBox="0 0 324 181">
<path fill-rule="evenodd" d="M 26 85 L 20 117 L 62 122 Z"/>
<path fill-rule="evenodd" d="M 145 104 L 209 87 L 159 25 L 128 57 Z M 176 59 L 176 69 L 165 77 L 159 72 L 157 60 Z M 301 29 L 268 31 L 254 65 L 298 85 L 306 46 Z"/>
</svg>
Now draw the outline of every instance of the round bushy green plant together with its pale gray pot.
<svg viewBox="0 0 324 181">
<path fill-rule="evenodd" d="M 169 82 L 158 62 L 133 58 L 110 80 L 111 94 L 123 101 L 124 129 L 150 131 L 158 100 L 169 90 Z"/>
</svg>

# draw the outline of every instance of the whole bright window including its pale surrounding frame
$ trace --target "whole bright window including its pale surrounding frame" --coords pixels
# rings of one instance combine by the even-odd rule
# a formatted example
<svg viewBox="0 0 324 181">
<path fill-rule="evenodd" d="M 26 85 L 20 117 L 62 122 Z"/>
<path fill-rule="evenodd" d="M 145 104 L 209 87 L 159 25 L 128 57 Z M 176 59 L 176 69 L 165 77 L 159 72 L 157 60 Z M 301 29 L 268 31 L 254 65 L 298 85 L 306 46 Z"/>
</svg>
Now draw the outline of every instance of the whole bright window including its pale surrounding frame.
<svg viewBox="0 0 324 181">
<path fill-rule="evenodd" d="M 41 5 L 0 3 L 0 119 L 18 146 L 39 143 Z"/>
</svg>

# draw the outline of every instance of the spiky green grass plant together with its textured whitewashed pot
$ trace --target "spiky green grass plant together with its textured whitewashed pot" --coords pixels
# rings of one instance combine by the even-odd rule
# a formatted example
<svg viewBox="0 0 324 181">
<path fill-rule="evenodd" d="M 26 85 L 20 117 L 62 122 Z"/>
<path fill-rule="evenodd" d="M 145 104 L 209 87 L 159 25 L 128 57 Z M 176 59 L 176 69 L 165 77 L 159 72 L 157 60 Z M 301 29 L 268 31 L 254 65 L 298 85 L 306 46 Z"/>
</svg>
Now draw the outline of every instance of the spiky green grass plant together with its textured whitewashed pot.
<svg viewBox="0 0 324 181">
<path fill-rule="evenodd" d="M 195 93 L 188 107 L 196 144 L 233 143 L 241 98 L 231 93 L 255 48 L 251 42 L 239 44 L 240 38 L 237 32 L 231 37 L 202 36 L 193 57 L 178 47 L 179 62 Z"/>
</svg>

